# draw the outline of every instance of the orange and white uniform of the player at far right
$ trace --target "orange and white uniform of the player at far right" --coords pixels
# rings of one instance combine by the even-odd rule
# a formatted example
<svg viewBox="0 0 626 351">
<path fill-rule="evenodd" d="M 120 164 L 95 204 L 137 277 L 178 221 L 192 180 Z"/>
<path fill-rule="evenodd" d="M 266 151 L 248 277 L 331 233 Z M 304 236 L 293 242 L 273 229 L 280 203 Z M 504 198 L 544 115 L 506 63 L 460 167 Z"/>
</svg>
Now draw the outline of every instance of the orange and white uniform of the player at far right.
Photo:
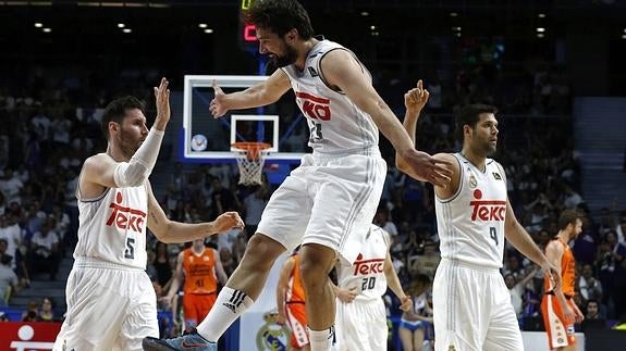
<svg viewBox="0 0 626 351">
<path fill-rule="evenodd" d="M 563 256 L 561 258 L 561 284 L 563 286 L 563 294 L 565 294 L 565 299 L 570 309 L 574 310 L 573 298 L 576 291 L 576 262 L 574 261 L 572 249 L 561 240 L 557 240 L 557 242 L 563 246 Z M 555 348 L 575 344 L 574 321 L 565 321 L 559 299 L 554 294 L 552 283 L 548 278 L 543 280 L 543 286 L 547 287 L 547 291 L 541 301 L 541 313 L 543 314 L 545 331 L 548 331 L 550 349 L 553 350 Z"/>
</svg>

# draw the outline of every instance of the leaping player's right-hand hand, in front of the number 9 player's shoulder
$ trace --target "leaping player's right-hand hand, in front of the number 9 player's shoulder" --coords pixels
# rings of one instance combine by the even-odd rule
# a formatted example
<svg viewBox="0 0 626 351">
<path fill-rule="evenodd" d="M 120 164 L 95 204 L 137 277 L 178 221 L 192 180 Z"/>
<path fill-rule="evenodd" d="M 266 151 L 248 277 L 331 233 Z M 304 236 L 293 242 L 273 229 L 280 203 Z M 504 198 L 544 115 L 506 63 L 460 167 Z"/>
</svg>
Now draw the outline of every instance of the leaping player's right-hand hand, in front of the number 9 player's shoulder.
<svg viewBox="0 0 626 351">
<path fill-rule="evenodd" d="M 405 153 L 403 160 L 418 177 L 435 186 L 445 188 L 452 179 L 452 162 L 447 160 L 435 159 L 415 149 Z"/>
</svg>

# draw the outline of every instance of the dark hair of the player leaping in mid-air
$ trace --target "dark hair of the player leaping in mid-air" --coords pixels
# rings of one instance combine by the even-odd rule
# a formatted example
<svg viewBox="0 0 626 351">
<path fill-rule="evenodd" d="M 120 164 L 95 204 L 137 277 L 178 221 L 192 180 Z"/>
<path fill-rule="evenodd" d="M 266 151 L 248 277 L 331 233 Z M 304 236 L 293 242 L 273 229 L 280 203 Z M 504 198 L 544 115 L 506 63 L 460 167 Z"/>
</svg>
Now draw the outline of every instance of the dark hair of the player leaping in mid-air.
<svg viewBox="0 0 626 351">
<path fill-rule="evenodd" d="M 284 36 L 296 28 L 300 38 L 307 40 L 314 36 L 309 15 L 296 0 L 256 0 L 244 17 L 246 24 L 267 28 Z"/>
</svg>

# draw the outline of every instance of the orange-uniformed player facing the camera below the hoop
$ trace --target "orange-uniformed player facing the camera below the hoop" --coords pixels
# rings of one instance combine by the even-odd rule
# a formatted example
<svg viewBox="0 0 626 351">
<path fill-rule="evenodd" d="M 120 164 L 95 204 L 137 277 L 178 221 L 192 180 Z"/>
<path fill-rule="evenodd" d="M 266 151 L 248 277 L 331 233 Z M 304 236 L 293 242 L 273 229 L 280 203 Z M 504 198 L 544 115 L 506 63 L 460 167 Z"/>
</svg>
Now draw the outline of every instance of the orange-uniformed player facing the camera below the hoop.
<svg viewBox="0 0 626 351">
<path fill-rule="evenodd" d="M 183 285 L 183 316 L 185 329 L 189 330 L 211 311 L 218 294 L 218 279 L 226 284 L 229 277 L 222 266 L 218 250 L 205 247 L 204 239 L 194 240 L 192 246 L 176 256 L 176 271 L 165 301 L 172 306 L 176 321 L 176 303 L 173 303 Z"/>
</svg>

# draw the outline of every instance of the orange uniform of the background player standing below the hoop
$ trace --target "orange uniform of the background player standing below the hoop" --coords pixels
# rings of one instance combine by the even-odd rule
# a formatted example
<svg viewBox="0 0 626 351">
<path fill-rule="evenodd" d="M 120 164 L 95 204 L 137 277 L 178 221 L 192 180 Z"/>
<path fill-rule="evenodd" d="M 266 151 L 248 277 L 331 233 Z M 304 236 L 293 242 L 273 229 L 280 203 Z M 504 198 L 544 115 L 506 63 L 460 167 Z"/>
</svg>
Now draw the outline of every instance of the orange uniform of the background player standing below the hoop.
<svg viewBox="0 0 626 351">
<path fill-rule="evenodd" d="M 216 275 L 216 256 L 212 249 L 205 248 L 196 254 L 193 248 L 183 251 L 183 313 L 185 323 L 195 326 L 202 321 L 216 303 L 218 279 Z"/>
</svg>

